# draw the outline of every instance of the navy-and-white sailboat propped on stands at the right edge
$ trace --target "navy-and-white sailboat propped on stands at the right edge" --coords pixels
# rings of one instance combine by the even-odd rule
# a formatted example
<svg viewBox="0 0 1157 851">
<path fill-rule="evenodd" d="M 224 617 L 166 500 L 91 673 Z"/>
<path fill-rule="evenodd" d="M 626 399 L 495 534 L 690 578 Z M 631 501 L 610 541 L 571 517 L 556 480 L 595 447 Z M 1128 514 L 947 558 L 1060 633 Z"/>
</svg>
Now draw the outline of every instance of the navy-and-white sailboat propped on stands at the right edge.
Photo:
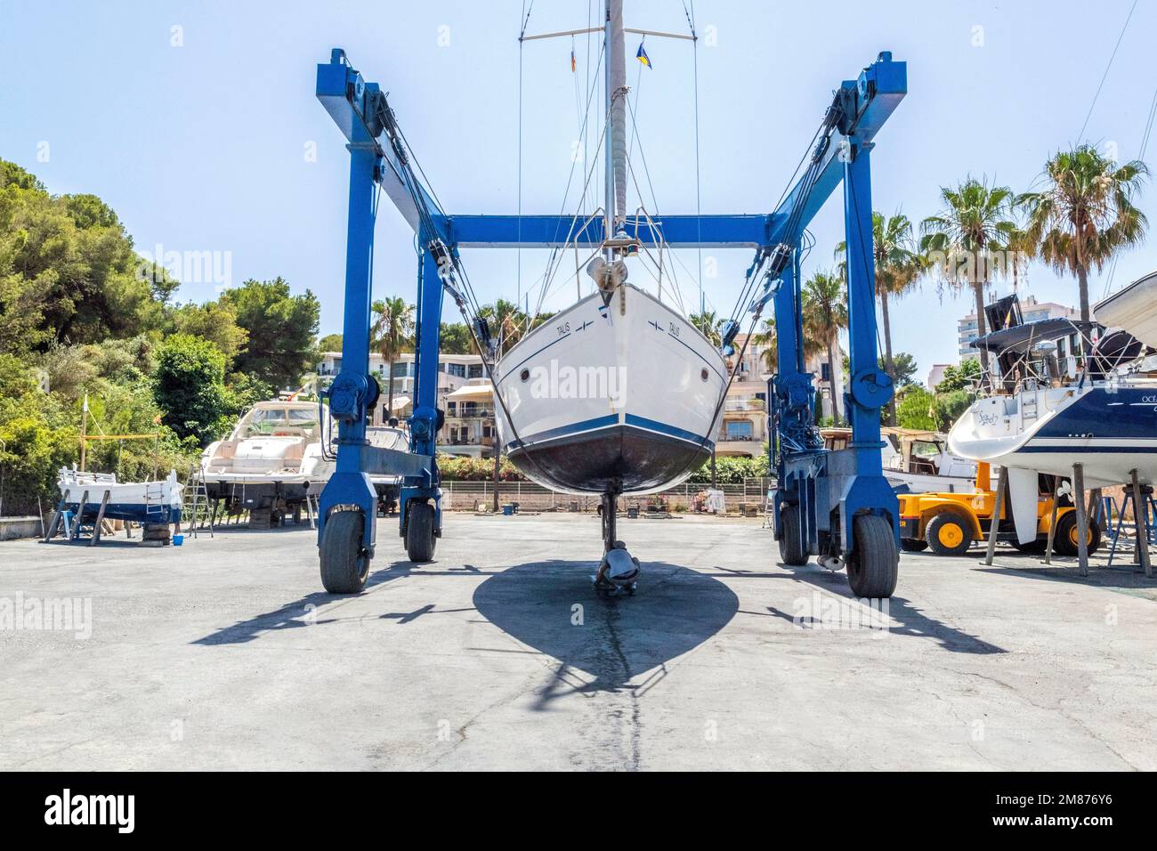
<svg viewBox="0 0 1157 851">
<path fill-rule="evenodd" d="M 1141 484 L 1157 483 L 1157 338 L 1147 284 L 1154 278 L 1096 306 L 1099 317 L 1112 316 L 1120 328 L 1044 320 L 1011 323 L 973 342 L 995 355 L 996 366 L 952 426 L 949 447 L 1008 470 L 1022 543 L 1030 527 L 1034 534 L 1038 474 L 1068 478 L 1081 464 L 1089 487 L 1128 483 L 1134 471 Z"/>
</svg>

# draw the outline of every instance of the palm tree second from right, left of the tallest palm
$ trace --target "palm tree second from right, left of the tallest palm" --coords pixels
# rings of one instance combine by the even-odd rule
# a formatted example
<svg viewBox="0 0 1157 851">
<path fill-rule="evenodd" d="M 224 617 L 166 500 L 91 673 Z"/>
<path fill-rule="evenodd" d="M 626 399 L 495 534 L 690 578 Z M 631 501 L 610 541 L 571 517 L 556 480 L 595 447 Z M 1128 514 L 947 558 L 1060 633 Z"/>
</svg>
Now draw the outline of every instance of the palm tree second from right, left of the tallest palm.
<svg viewBox="0 0 1157 851">
<path fill-rule="evenodd" d="M 977 333 L 987 332 L 985 291 L 994 252 L 1005 250 L 1016 233 L 1011 218 L 1012 190 L 989 186 L 975 177 L 965 178 L 955 189 L 941 186 L 944 210 L 920 223 L 920 251 L 941 280 L 953 289 L 970 287 L 977 302 Z M 980 362 L 988 371 L 988 352 L 980 350 Z"/>
</svg>

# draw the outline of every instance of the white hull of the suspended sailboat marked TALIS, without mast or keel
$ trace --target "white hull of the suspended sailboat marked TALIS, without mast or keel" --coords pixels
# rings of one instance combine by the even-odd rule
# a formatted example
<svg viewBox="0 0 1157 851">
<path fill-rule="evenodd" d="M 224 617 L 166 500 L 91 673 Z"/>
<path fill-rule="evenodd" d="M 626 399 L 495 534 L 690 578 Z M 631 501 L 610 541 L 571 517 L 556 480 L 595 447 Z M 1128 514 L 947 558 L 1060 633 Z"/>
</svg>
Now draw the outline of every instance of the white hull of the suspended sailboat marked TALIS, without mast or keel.
<svg viewBox="0 0 1157 851">
<path fill-rule="evenodd" d="M 714 447 L 727 365 L 679 313 L 620 286 L 535 329 L 496 365 L 499 438 L 529 478 L 567 493 L 653 493 Z"/>
</svg>

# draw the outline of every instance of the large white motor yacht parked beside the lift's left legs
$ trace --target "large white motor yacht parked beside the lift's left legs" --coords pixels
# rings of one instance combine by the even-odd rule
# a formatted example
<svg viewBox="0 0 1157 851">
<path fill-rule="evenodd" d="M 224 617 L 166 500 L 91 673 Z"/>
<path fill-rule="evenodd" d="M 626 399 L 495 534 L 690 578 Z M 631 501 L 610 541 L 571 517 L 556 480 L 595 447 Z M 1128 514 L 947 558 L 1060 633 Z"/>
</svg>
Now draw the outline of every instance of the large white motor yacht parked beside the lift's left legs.
<svg viewBox="0 0 1157 851">
<path fill-rule="evenodd" d="M 227 511 L 270 511 L 300 516 L 307 494 L 320 493 L 333 472 L 330 410 L 307 401 L 258 402 L 226 440 L 201 454 L 209 501 Z"/>
</svg>

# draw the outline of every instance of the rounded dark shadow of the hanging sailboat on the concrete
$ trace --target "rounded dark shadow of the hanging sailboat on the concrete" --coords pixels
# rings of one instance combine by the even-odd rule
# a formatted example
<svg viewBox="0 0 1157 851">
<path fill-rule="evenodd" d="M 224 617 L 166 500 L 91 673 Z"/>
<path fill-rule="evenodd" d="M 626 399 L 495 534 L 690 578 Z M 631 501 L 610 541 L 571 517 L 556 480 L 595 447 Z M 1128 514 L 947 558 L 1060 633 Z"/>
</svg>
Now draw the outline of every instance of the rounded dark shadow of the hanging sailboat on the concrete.
<svg viewBox="0 0 1157 851">
<path fill-rule="evenodd" d="M 640 697 L 666 675 L 672 659 L 722 630 L 739 609 L 735 593 L 714 577 L 663 562 L 643 563 L 633 596 L 600 599 L 591 587 L 596 567 L 532 562 L 495 573 L 474 590 L 474 607 L 487 621 L 559 660 L 535 709 L 573 692 L 627 690 Z"/>
</svg>

